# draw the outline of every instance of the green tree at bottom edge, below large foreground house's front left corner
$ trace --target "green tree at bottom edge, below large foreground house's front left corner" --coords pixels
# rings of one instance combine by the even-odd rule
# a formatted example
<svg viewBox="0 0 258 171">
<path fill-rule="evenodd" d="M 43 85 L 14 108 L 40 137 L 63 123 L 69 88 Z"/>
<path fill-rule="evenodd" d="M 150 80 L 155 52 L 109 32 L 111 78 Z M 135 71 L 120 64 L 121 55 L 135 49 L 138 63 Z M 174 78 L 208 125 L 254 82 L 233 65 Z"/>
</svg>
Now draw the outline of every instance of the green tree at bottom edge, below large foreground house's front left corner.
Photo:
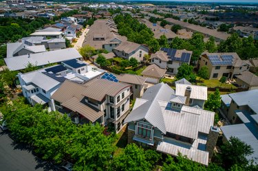
<svg viewBox="0 0 258 171">
<path fill-rule="evenodd" d="M 128 144 L 125 150 L 114 158 L 111 165 L 111 170 L 138 170 L 149 171 L 155 166 L 155 163 L 160 159 L 160 155 L 152 150 L 144 152 L 142 148 L 136 146 L 136 144 Z"/>
</svg>

